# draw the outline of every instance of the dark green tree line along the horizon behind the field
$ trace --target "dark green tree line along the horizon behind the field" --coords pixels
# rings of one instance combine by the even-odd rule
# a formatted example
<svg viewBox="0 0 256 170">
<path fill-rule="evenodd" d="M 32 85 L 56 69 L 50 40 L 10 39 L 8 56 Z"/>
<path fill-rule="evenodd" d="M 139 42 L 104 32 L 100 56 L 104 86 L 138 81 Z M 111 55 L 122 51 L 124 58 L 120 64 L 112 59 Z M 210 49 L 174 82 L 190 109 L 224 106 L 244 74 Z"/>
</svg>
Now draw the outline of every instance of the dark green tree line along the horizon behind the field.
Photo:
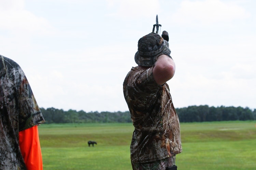
<svg viewBox="0 0 256 170">
<path fill-rule="evenodd" d="M 111 123 L 131 122 L 130 112 L 84 112 L 63 111 L 56 108 L 40 108 L 46 123 Z M 208 105 L 176 108 L 180 122 L 256 120 L 256 109 L 248 107 L 209 107 Z"/>
</svg>

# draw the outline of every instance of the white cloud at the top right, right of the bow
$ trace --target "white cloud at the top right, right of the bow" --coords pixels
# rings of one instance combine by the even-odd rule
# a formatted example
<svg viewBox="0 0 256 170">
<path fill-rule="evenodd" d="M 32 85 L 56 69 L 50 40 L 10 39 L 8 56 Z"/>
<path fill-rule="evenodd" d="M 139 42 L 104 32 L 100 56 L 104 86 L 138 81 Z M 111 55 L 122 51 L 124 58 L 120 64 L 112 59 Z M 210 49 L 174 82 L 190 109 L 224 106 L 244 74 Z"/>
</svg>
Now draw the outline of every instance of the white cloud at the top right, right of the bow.
<svg viewBox="0 0 256 170">
<path fill-rule="evenodd" d="M 178 23 L 212 24 L 229 22 L 234 19 L 249 17 L 244 8 L 232 2 L 220 0 L 183 1 L 172 19 Z"/>
</svg>

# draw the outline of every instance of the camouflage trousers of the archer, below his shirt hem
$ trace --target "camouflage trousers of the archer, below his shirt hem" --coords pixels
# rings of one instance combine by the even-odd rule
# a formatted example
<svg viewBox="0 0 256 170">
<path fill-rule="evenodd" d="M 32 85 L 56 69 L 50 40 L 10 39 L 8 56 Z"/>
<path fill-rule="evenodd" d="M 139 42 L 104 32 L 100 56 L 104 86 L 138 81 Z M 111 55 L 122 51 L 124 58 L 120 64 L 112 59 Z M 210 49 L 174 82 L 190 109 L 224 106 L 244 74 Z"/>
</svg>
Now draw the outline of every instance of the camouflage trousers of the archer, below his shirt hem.
<svg viewBox="0 0 256 170">
<path fill-rule="evenodd" d="M 171 167 L 175 165 L 175 155 L 161 159 L 156 160 L 150 163 L 141 163 L 136 164 L 134 162 L 131 163 L 133 170 L 166 170 L 167 167 Z"/>
</svg>

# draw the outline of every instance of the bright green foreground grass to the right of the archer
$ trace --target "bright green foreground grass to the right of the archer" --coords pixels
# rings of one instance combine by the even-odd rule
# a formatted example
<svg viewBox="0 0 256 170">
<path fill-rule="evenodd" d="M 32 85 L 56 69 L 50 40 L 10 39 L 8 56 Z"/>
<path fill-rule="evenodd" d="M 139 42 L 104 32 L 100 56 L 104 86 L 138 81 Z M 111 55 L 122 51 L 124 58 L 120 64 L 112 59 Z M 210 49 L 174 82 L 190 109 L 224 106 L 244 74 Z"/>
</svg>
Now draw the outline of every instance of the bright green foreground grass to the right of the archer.
<svg viewBox="0 0 256 170">
<path fill-rule="evenodd" d="M 176 163 L 184 170 L 255 170 L 255 144 L 256 140 L 184 143 Z"/>
</svg>

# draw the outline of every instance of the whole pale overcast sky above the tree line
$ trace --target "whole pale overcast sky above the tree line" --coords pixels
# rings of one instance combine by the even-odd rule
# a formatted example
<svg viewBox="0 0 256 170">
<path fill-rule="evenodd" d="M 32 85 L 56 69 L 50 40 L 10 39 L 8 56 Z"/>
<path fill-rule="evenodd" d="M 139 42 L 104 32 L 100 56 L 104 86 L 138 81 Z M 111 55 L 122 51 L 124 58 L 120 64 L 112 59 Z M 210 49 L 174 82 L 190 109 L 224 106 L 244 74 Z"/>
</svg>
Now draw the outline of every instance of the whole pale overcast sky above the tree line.
<svg viewBox="0 0 256 170">
<path fill-rule="evenodd" d="M 254 0 L 0 0 L 0 54 L 40 107 L 128 111 L 123 81 L 158 15 L 176 64 L 176 108 L 256 108 Z"/>
</svg>

